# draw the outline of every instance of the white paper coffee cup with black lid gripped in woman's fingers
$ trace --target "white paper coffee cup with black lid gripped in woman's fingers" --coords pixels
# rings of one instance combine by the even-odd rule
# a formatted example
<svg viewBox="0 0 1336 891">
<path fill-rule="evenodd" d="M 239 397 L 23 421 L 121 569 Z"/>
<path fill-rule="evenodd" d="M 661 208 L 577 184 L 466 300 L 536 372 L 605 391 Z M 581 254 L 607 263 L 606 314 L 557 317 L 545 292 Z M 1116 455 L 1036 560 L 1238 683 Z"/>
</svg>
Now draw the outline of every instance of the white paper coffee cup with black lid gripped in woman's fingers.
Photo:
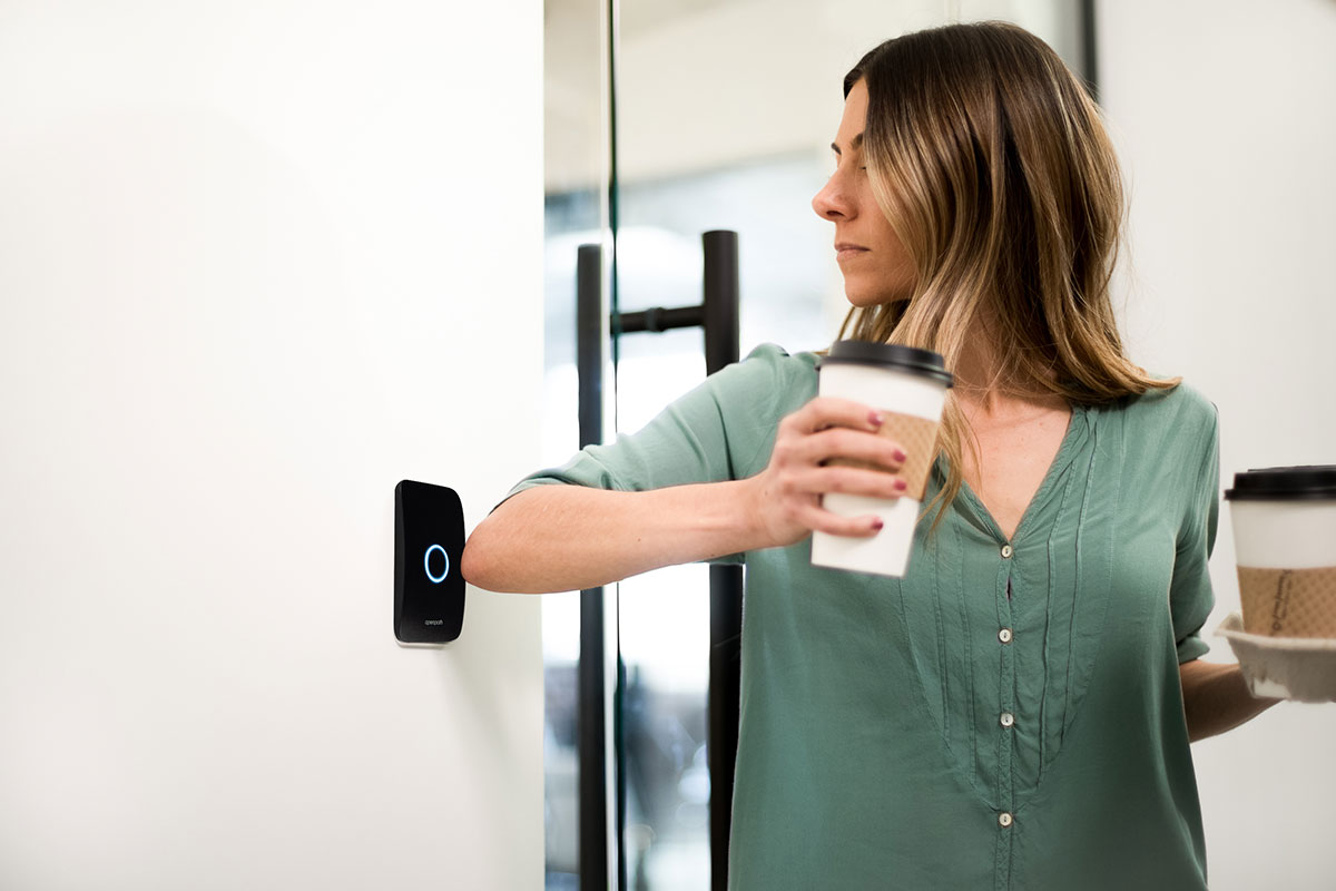
<svg viewBox="0 0 1336 891">
<path fill-rule="evenodd" d="M 914 528 L 937 458 L 937 433 L 951 374 L 937 353 L 868 341 L 836 341 L 830 355 L 820 359 L 818 371 L 818 395 L 862 402 L 886 415 L 879 433 L 904 450 L 904 466 L 898 476 L 907 489 L 899 498 L 824 494 L 826 510 L 843 517 L 875 514 L 883 526 L 867 538 L 814 532 L 812 565 L 902 577 L 908 569 Z M 888 470 L 843 458 L 830 464 Z"/>
</svg>

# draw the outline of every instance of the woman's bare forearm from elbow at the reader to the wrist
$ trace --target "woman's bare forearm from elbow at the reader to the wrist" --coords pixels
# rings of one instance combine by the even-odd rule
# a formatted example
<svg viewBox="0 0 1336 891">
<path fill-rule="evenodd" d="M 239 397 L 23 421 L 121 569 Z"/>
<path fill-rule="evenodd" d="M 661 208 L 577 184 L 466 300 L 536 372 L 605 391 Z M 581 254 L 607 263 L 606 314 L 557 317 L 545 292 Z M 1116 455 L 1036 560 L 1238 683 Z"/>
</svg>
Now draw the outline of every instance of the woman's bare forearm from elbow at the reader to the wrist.
<svg viewBox="0 0 1336 891">
<path fill-rule="evenodd" d="M 461 573 L 478 588 L 546 593 L 768 546 L 747 480 L 649 492 L 546 485 L 478 524 Z"/>
</svg>

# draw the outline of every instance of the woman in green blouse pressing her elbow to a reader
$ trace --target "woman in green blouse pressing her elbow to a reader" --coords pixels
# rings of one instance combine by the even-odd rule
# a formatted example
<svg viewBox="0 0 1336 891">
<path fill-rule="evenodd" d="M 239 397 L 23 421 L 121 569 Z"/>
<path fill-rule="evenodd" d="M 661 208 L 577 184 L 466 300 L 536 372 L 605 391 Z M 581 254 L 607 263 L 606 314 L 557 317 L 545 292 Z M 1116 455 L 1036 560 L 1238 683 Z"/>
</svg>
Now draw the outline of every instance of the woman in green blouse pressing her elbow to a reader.
<svg viewBox="0 0 1336 891">
<path fill-rule="evenodd" d="M 1205 888 L 1189 740 L 1271 701 L 1198 661 L 1216 414 L 1124 354 L 1098 111 L 997 23 L 890 40 L 844 95 L 812 202 L 840 337 L 957 378 L 906 577 L 811 565 L 815 529 L 876 534 L 822 493 L 896 497 L 906 456 L 772 345 L 522 481 L 462 572 L 545 592 L 745 561 L 735 888 Z"/>
</svg>

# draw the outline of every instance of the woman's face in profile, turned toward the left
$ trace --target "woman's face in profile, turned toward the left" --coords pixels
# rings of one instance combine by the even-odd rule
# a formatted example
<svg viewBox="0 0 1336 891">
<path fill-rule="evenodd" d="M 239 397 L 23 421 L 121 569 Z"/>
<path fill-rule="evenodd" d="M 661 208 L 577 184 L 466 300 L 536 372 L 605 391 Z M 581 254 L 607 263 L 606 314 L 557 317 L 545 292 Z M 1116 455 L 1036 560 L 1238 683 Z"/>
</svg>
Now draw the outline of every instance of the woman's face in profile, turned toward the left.
<svg viewBox="0 0 1336 891">
<path fill-rule="evenodd" d="M 862 152 L 866 120 L 867 84 L 859 80 L 831 143 L 835 172 L 812 199 L 812 210 L 835 223 L 835 258 L 854 306 L 907 299 L 914 290 L 914 264 L 872 198 Z"/>
</svg>

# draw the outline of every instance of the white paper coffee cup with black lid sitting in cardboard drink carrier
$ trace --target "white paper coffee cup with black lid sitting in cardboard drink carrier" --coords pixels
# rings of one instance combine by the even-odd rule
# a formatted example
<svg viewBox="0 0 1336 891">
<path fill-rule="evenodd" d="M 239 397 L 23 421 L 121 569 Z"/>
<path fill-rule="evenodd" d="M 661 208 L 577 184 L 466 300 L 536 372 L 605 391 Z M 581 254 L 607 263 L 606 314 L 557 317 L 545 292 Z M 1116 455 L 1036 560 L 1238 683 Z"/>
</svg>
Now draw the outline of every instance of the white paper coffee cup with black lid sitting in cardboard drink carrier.
<svg viewBox="0 0 1336 891">
<path fill-rule="evenodd" d="M 1244 631 L 1336 640 L 1336 465 L 1236 473 L 1225 500 Z"/>
</svg>

